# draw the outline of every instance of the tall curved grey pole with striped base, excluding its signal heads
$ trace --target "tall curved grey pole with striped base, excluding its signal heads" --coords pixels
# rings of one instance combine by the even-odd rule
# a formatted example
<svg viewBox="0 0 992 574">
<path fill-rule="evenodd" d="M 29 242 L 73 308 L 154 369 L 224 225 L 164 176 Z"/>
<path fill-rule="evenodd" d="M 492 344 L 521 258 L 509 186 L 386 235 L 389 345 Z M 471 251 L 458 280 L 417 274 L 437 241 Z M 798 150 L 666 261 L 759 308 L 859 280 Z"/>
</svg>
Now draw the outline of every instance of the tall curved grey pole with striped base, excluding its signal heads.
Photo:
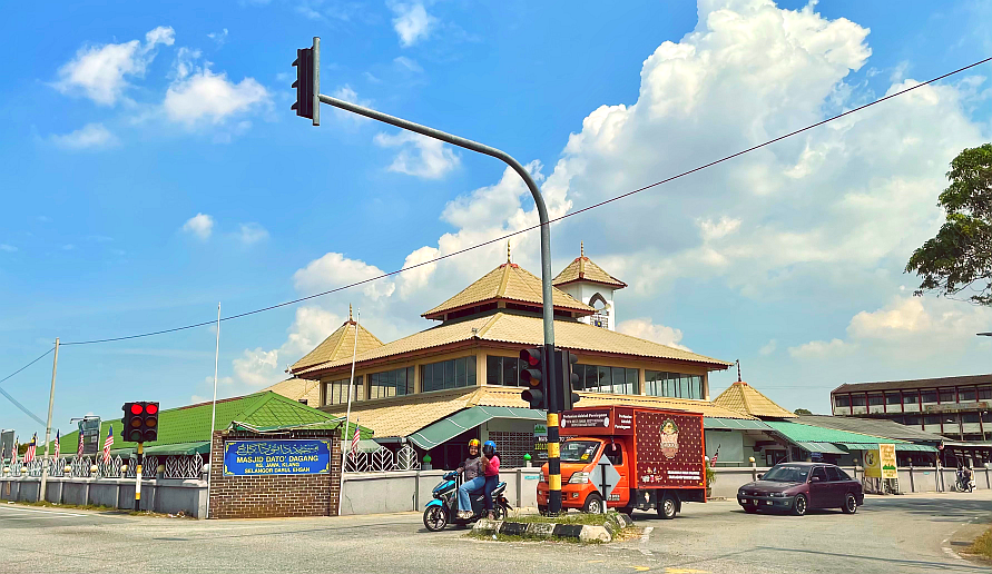
<svg viewBox="0 0 992 574">
<path fill-rule="evenodd" d="M 320 49 L 318 38 L 314 38 L 314 47 L 316 47 L 317 50 Z M 315 61 L 320 61 L 318 53 L 320 52 L 314 56 Z M 515 171 L 523 179 L 523 182 L 527 184 L 527 188 L 530 190 L 531 195 L 534 198 L 534 205 L 537 205 L 538 207 L 538 218 L 541 221 L 541 296 L 544 304 L 544 357 L 547 357 L 543 362 L 543 365 L 546 370 L 544 380 L 548 382 L 549 395 L 548 486 L 551 491 L 548 501 L 548 509 L 552 514 L 558 514 L 559 512 L 561 512 L 561 461 L 559 458 L 560 455 L 558 435 L 558 415 L 561 412 L 561 400 L 559 400 L 558 398 L 561 396 L 562 390 L 554 388 L 556 385 L 552 384 L 552 382 L 557 380 L 554 376 L 557 367 L 553 360 L 554 305 L 551 299 L 551 227 L 550 221 L 548 220 L 548 208 L 544 205 L 544 198 L 541 196 L 541 190 L 538 188 L 538 184 L 534 181 L 531 175 L 528 174 L 527 169 L 524 169 L 523 166 L 520 165 L 519 161 L 513 159 L 509 154 L 497 148 L 479 144 L 478 141 L 472 141 L 470 139 L 452 136 L 451 133 L 446 133 L 434 128 L 429 128 L 426 126 L 421 126 L 420 123 L 406 121 L 402 118 L 390 116 L 381 111 L 375 111 L 363 106 L 352 103 L 350 101 L 344 101 L 338 98 L 332 98 L 331 96 L 324 96 L 323 93 L 320 93 L 317 98 L 320 101 L 330 106 L 334 106 L 335 108 L 350 111 L 352 113 L 357 113 L 359 116 L 364 116 L 370 119 L 382 121 L 384 123 L 389 123 L 390 126 L 395 126 L 401 129 L 413 131 L 414 133 L 420 133 L 421 136 L 438 139 L 444 141 L 445 144 L 451 144 L 452 146 L 458 146 L 460 148 L 497 158 L 510 166 L 513 171 Z M 314 116 L 316 117 L 316 110 L 314 111 Z"/>
</svg>

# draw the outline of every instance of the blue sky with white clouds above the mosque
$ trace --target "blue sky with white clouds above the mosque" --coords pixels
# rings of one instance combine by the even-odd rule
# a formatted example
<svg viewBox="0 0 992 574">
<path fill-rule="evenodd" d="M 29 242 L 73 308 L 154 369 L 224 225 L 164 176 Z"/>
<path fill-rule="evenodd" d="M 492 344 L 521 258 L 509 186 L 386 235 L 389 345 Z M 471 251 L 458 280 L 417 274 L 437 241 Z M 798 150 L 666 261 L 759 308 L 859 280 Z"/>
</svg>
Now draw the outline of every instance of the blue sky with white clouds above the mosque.
<svg viewBox="0 0 992 574">
<path fill-rule="evenodd" d="M 96 2 L 0 22 L 0 376 L 62 340 L 209 320 L 531 225 L 495 161 L 324 107 L 322 88 L 500 147 L 554 214 L 992 55 L 992 3 Z M 913 298 L 960 149 L 992 139 L 988 66 L 556 225 L 630 287 L 621 328 L 740 358 L 788 408 L 845 382 L 988 373 L 992 314 Z M 498 265 L 492 246 L 222 327 L 220 393 L 278 380 L 346 317 L 393 339 Z M 514 239 L 538 271 L 538 238 Z M 55 420 L 209 395 L 215 333 L 62 347 Z M 43 417 L 50 362 L 3 387 Z M 714 392 L 729 373 L 711 377 Z M 9 403 L 0 426 L 43 430 Z"/>
</svg>

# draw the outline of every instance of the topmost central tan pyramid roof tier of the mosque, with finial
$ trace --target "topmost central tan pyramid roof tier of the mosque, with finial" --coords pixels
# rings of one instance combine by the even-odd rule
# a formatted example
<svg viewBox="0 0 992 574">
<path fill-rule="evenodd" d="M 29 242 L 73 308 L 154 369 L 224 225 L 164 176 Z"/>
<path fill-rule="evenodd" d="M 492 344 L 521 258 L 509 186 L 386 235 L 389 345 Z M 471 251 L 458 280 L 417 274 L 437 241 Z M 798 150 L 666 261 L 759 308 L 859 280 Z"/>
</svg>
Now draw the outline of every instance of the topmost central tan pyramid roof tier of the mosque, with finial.
<svg viewBox="0 0 992 574">
<path fill-rule="evenodd" d="M 517 264 L 507 263 L 489 271 L 481 279 L 462 289 L 458 295 L 423 314 L 424 317 L 442 318 L 445 313 L 498 300 L 542 305 L 541 279 Z M 552 288 L 551 300 L 556 309 L 592 314 L 596 309 L 558 288 Z"/>
</svg>

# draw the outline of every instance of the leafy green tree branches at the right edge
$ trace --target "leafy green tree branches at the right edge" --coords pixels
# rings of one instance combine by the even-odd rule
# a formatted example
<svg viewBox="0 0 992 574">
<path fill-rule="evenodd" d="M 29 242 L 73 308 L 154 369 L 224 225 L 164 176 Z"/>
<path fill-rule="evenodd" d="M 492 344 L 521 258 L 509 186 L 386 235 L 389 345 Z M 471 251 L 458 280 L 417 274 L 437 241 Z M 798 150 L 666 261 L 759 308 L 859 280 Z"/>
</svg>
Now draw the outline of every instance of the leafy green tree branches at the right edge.
<svg viewBox="0 0 992 574">
<path fill-rule="evenodd" d="M 959 154 L 947 179 L 937 200 L 946 221 L 906 264 L 906 273 L 922 278 L 914 295 L 970 289 L 972 303 L 992 306 L 992 144 Z"/>
</svg>

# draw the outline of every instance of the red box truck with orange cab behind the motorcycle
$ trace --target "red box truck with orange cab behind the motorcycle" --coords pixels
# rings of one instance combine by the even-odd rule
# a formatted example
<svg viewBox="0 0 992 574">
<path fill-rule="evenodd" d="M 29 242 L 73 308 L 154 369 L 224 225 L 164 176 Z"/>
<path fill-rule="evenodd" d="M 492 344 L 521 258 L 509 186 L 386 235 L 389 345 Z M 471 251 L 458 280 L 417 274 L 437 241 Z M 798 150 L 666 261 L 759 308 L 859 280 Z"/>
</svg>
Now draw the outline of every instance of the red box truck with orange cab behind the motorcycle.
<svg viewBox="0 0 992 574">
<path fill-rule="evenodd" d="M 559 429 L 562 508 L 601 512 L 606 504 L 625 513 L 657 509 L 660 517 L 674 518 L 681 503 L 706 502 L 706 446 L 699 413 L 577 408 L 562 413 Z M 548 465 L 541 471 L 538 509 L 547 512 Z M 610 491 L 606 499 L 605 489 Z"/>
</svg>

